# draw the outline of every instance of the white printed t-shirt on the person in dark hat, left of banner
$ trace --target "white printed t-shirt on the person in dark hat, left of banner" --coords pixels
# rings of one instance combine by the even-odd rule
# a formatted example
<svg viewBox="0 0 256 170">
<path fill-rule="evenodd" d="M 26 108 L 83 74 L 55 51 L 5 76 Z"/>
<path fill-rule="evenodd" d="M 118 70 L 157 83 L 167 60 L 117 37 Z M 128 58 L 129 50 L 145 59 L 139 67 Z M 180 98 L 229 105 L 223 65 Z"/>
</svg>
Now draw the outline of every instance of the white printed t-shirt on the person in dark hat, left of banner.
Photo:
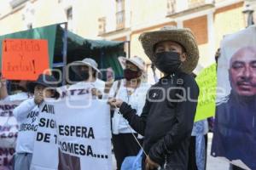
<svg viewBox="0 0 256 170">
<path fill-rule="evenodd" d="M 34 139 L 38 128 L 38 105 L 34 99 L 26 99 L 14 110 L 14 116 L 19 125 L 19 133 L 16 144 L 17 153 L 32 153 Z"/>
</svg>

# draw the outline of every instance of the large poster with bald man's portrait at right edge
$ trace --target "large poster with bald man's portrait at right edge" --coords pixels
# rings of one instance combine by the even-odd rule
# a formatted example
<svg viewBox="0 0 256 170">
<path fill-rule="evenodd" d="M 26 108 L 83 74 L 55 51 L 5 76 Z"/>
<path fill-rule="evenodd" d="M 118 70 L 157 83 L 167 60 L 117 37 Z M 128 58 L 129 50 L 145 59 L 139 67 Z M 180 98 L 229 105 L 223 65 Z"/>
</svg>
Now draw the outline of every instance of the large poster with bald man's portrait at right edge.
<svg viewBox="0 0 256 170">
<path fill-rule="evenodd" d="M 225 36 L 220 48 L 212 156 L 256 169 L 256 27 Z"/>
</svg>

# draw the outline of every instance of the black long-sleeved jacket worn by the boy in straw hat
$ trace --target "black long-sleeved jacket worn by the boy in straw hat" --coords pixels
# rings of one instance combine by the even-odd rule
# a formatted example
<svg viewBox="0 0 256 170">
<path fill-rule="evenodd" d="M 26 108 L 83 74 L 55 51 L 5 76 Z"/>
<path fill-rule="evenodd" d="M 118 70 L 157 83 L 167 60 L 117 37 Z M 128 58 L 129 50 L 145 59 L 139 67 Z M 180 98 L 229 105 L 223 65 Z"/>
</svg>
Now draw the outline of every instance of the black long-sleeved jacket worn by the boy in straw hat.
<svg viewBox="0 0 256 170">
<path fill-rule="evenodd" d="M 141 116 L 125 102 L 120 106 L 131 127 L 144 136 L 146 153 L 161 166 L 166 162 L 166 169 L 187 170 L 198 95 L 195 79 L 177 72 L 149 88 Z"/>
</svg>

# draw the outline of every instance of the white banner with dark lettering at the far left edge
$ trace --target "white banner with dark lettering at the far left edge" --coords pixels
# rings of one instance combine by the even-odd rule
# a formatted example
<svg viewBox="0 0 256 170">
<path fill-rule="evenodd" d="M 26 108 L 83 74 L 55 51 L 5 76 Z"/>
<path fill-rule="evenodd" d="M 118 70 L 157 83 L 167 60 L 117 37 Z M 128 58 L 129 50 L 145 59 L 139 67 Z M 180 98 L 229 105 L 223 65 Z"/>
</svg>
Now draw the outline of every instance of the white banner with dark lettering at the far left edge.
<svg viewBox="0 0 256 170">
<path fill-rule="evenodd" d="M 13 110 L 20 102 L 0 102 L 0 170 L 11 170 L 18 123 Z"/>
</svg>

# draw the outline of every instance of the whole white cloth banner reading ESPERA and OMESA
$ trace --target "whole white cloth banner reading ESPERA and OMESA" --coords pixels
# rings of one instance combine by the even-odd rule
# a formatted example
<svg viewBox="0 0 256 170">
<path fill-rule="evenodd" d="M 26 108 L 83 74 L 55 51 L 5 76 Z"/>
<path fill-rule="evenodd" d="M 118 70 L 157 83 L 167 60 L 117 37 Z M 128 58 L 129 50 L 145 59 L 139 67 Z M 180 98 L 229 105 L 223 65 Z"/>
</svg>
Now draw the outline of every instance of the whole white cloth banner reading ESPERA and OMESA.
<svg viewBox="0 0 256 170">
<path fill-rule="evenodd" d="M 109 105 L 90 88 L 62 87 L 60 99 L 40 107 L 32 170 L 112 169 Z"/>
</svg>

